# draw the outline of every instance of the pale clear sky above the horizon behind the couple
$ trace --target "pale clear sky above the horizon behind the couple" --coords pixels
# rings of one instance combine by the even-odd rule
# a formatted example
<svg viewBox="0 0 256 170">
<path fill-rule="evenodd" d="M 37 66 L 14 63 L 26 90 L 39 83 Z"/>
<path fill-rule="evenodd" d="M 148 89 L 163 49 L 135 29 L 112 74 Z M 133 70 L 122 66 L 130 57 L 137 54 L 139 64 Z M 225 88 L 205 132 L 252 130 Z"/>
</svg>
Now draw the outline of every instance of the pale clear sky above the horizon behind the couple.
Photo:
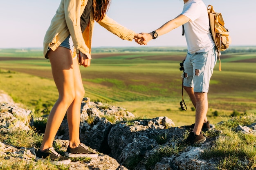
<svg viewBox="0 0 256 170">
<path fill-rule="evenodd" d="M 231 46 L 256 45 L 255 0 L 203 0 L 222 13 Z M 43 38 L 60 0 L 0 0 L 0 48 L 43 48 Z M 151 32 L 182 12 L 182 0 L 112 0 L 107 15 L 137 33 Z M 95 24 L 92 47 L 139 46 Z M 148 46 L 186 46 L 179 27 Z"/>
</svg>

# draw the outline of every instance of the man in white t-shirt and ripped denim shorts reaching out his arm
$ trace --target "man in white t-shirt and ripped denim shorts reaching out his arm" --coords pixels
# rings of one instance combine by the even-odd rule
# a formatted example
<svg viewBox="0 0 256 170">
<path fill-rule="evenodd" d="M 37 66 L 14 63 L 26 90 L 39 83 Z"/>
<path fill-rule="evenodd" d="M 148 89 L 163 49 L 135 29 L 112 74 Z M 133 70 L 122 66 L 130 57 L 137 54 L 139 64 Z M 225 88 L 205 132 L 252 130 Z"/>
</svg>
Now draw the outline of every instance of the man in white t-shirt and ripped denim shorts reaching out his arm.
<svg viewBox="0 0 256 170">
<path fill-rule="evenodd" d="M 180 15 L 166 22 L 151 33 L 141 33 L 142 38 L 135 40 L 138 44 L 146 45 L 184 25 L 188 53 L 184 61 L 184 89 L 195 106 L 195 124 L 187 126 L 193 131 L 184 140 L 186 144 L 198 144 L 206 138 L 202 130 L 211 130 L 207 121 L 209 82 L 217 61 L 217 52 L 209 31 L 207 7 L 202 0 L 184 0 L 184 8 Z M 138 36 L 139 37 L 139 36 Z"/>
</svg>

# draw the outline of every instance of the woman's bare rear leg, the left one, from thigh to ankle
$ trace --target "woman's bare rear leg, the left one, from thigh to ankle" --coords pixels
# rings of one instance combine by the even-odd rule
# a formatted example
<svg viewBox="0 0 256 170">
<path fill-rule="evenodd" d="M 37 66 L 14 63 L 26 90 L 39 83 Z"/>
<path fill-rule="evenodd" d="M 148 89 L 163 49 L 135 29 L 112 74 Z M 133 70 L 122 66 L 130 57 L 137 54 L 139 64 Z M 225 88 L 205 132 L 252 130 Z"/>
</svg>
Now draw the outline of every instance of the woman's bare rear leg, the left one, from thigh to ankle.
<svg viewBox="0 0 256 170">
<path fill-rule="evenodd" d="M 59 97 L 49 114 L 45 135 L 40 146 L 41 151 L 52 147 L 65 113 L 75 99 L 74 65 L 71 51 L 65 47 L 58 47 L 55 51 L 50 50 L 48 56 Z"/>
</svg>

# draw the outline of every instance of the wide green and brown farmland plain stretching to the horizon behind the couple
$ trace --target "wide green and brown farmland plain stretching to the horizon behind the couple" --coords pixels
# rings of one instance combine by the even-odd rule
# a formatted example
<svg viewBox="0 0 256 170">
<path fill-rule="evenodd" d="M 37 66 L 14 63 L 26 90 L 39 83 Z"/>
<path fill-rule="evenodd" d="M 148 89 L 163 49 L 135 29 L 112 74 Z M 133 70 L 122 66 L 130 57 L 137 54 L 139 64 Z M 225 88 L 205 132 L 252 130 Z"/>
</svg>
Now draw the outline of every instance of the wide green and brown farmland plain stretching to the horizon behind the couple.
<svg viewBox="0 0 256 170">
<path fill-rule="evenodd" d="M 195 112 L 185 94 L 180 110 L 182 78 L 179 47 L 93 49 L 90 68 L 81 68 L 85 97 L 127 108 L 137 117 L 167 116 L 176 126 L 194 122 Z M 208 117 L 212 123 L 234 111 L 256 113 L 256 47 L 234 47 L 221 55 L 209 89 Z M 36 116 L 49 113 L 58 98 L 49 60 L 41 49 L 0 49 L 0 89 Z M 218 116 L 213 117 L 213 112 Z"/>
</svg>

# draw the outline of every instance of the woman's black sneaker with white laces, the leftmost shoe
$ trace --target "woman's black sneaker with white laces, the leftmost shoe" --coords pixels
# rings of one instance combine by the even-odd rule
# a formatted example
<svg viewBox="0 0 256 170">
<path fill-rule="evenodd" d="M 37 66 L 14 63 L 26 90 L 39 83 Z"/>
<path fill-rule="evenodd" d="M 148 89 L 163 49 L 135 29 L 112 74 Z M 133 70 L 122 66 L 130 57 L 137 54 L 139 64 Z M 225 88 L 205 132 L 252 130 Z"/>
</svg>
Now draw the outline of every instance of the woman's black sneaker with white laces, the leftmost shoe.
<svg viewBox="0 0 256 170">
<path fill-rule="evenodd" d="M 58 154 L 58 152 L 56 152 L 53 147 L 48 148 L 44 152 L 38 149 L 38 151 L 36 152 L 36 161 L 39 161 L 39 160 L 41 161 L 48 160 L 54 165 L 66 165 L 71 162 L 71 160 L 68 159 L 67 157 L 63 157 L 60 154 Z"/>
</svg>

